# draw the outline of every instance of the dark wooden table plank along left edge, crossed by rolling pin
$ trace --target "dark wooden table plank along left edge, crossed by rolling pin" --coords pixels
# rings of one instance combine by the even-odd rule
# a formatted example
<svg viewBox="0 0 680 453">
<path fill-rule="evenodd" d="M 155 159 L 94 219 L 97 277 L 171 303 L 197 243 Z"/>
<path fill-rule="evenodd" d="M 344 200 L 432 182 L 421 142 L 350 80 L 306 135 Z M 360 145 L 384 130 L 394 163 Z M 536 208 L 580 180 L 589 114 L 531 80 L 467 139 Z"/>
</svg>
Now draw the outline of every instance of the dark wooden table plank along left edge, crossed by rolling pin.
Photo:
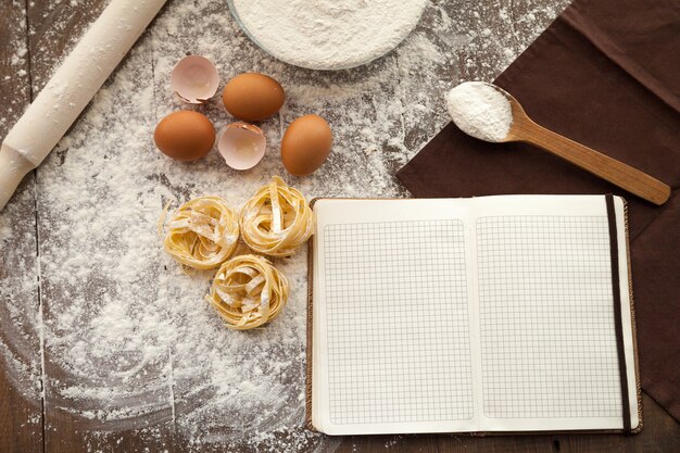
<svg viewBox="0 0 680 453">
<path fill-rule="evenodd" d="M 0 141 L 30 102 L 26 4 L 0 2 Z M 42 451 L 35 179 L 0 213 L 0 450 Z"/>
</svg>

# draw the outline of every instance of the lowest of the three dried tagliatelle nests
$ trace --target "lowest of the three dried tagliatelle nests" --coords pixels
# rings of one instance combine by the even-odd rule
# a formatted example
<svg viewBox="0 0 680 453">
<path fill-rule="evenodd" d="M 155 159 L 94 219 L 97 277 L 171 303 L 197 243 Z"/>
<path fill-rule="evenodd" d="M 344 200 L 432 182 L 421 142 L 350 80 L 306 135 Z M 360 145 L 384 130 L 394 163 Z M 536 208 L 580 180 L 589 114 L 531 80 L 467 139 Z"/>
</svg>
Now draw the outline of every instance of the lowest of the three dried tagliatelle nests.
<svg viewBox="0 0 680 453">
<path fill-rule="evenodd" d="M 263 256 L 235 256 L 219 267 L 206 299 L 227 327 L 248 330 L 281 312 L 288 300 L 288 279 Z"/>
</svg>

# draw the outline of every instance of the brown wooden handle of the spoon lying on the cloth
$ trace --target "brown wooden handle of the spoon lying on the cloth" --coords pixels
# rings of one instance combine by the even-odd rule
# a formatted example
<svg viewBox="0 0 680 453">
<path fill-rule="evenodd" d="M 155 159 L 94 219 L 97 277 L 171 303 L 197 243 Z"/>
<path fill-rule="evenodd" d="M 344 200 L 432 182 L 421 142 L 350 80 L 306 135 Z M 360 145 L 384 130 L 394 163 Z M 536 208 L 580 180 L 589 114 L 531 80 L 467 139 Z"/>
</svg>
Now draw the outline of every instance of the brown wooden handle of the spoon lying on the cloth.
<svg viewBox="0 0 680 453">
<path fill-rule="evenodd" d="M 654 204 L 664 204 L 670 197 L 670 187 L 646 173 L 531 123 L 532 127 L 522 127 L 518 137 L 521 141 L 543 148 Z"/>
</svg>

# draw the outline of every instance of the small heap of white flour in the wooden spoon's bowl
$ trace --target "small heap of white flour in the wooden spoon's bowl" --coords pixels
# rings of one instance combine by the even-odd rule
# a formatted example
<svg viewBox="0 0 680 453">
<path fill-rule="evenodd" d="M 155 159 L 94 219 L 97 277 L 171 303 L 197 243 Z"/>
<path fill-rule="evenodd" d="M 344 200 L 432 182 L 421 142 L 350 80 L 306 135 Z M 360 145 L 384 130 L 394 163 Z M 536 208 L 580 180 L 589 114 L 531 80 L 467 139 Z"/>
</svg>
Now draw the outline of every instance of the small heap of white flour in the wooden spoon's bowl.
<svg viewBox="0 0 680 453">
<path fill-rule="evenodd" d="M 451 119 L 465 134 L 486 141 L 501 141 L 513 124 L 511 103 L 483 81 L 466 81 L 446 95 Z"/>
</svg>

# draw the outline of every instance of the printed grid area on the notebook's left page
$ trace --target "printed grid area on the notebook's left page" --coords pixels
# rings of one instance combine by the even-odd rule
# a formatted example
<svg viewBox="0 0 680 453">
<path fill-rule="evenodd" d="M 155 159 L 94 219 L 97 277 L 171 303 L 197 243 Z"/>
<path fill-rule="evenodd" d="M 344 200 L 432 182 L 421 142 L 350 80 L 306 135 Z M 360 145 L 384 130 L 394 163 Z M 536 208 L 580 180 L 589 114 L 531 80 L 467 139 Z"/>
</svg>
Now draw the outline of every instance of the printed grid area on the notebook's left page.
<svg viewBox="0 0 680 453">
<path fill-rule="evenodd" d="M 324 229 L 333 424 L 473 417 L 463 223 Z"/>
</svg>

